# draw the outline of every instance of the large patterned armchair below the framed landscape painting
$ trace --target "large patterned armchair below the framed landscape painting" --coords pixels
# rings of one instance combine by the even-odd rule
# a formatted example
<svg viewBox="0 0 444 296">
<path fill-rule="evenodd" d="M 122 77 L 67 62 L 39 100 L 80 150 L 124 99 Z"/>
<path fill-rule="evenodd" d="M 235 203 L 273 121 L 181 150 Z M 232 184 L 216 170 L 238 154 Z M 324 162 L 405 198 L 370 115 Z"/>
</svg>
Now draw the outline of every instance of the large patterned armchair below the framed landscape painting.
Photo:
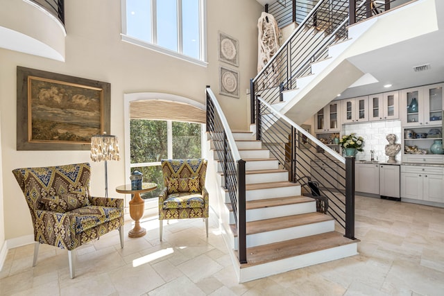
<svg viewBox="0 0 444 296">
<path fill-rule="evenodd" d="M 34 260 L 40 243 L 68 250 L 75 277 L 76 247 L 119 229 L 123 248 L 123 199 L 89 195 L 88 163 L 12 171 L 22 189 L 34 226 Z"/>
</svg>

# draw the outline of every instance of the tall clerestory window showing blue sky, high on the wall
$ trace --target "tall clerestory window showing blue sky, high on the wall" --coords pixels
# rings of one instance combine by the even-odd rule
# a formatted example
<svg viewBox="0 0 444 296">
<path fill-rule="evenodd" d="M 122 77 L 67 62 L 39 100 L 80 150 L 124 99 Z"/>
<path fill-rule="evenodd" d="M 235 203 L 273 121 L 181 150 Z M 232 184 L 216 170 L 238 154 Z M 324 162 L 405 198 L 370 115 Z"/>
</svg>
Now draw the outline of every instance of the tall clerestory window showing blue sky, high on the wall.
<svg viewBox="0 0 444 296">
<path fill-rule="evenodd" d="M 205 65 L 206 0 L 122 0 L 122 40 Z"/>
</svg>

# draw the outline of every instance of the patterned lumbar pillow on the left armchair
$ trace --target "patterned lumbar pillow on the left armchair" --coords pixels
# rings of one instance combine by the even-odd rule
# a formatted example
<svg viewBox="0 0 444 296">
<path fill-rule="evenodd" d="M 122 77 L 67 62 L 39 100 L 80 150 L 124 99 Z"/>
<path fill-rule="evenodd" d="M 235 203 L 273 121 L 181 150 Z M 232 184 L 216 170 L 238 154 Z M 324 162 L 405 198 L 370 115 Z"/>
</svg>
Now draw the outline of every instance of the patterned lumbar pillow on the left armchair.
<svg viewBox="0 0 444 296">
<path fill-rule="evenodd" d="M 44 204 L 46 211 L 56 211 L 58 213 L 65 213 L 89 205 L 88 193 L 84 189 L 46 196 L 41 198 L 40 202 Z"/>
</svg>

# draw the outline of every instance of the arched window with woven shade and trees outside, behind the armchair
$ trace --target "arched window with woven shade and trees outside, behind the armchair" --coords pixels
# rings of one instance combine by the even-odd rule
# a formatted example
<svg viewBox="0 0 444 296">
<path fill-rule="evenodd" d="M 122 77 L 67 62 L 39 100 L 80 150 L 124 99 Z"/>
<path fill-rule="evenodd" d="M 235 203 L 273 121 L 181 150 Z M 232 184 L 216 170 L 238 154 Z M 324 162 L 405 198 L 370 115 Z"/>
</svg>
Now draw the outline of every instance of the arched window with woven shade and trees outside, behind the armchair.
<svg viewBox="0 0 444 296">
<path fill-rule="evenodd" d="M 126 179 L 141 171 L 157 189 L 142 195 L 155 198 L 164 188 L 160 159 L 206 158 L 205 105 L 173 94 L 125 94 Z M 150 200 L 152 201 L 152 200 Z M 145 207 L 157 207 L 145 202 Z"/>
</svg>

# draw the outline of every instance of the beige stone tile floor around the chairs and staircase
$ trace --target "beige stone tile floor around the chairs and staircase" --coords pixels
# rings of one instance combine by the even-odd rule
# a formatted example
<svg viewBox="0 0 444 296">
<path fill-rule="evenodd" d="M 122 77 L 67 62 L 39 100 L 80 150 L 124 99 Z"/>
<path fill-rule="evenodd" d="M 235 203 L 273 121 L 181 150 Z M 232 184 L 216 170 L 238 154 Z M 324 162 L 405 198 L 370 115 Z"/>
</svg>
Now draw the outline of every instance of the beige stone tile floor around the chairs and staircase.
<svg viewBox="0 0 444 296">
<path fill-rule="evenodd" d="M 118 232 L 78 249 L 76 278 L 67 252 L 41 245 L 9 250 L 0 295 L 444 295 L 444 209 L 357 197 L 359 255 L 238 284 L 216 219 L 164 226 L 144 222 L 142 238 Z M 126 234 L 131 228 L 126 225 Z"/>
</svg>

